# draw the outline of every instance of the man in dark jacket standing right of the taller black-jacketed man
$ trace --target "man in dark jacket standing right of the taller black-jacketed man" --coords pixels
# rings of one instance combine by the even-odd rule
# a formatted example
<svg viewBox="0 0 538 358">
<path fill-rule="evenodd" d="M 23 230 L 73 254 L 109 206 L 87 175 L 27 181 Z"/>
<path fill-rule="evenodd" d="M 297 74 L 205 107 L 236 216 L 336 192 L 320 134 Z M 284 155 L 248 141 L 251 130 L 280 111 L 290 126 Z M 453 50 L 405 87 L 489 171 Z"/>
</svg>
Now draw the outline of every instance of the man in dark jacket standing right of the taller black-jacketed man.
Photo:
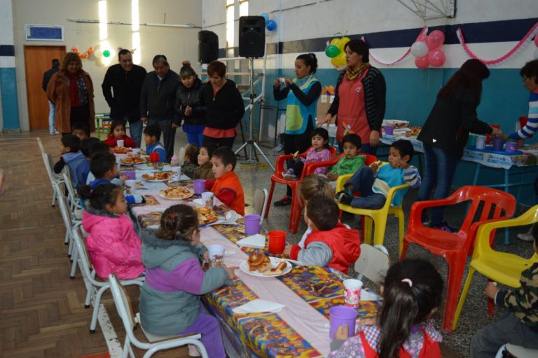
<svg viewBox="0 0 538 358">
<path fill-rule="evenodd" d="M 179 76 L 170 69 L 170 64 L 165 55 L 153 57 L 153 69 L 144 78 L 144 84 L 140 92 L 140 118 L 149 125 L 158 125 L 163 131 L 166 150 L 166 160 L 174 155 L 174 139 L 176 128 L 174 123 L 177 86 Z M 148 120 L 149 118 L 149 120 Z"/>
</svg>

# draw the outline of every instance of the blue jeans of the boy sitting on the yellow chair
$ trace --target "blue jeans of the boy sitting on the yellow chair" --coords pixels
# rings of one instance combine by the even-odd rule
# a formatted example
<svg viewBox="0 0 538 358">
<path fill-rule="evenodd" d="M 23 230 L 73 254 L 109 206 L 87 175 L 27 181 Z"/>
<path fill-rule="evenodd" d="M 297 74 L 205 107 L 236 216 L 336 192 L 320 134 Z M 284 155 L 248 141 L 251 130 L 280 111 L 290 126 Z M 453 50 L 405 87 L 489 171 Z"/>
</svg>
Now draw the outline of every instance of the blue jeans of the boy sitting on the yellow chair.
<svg viewBox="0 0 538 358">
<path fill-rule="evenodd" d="M 375 193 L 372 190 L 373 182 L 375 178 L 373 177 L 373 172 L 370 167 L 361 167 L 350 180 L 346 181 L 344 188 L 350 191 L 360 191 L 361 196 L 354 197 L 351 200 L 352 207 L 360 207 L 362 209 L 381 209 L 385 205 L 385 195 L 380 193 Z M 353 188 L 350 188 L 350 185 Z"/>
</svg>

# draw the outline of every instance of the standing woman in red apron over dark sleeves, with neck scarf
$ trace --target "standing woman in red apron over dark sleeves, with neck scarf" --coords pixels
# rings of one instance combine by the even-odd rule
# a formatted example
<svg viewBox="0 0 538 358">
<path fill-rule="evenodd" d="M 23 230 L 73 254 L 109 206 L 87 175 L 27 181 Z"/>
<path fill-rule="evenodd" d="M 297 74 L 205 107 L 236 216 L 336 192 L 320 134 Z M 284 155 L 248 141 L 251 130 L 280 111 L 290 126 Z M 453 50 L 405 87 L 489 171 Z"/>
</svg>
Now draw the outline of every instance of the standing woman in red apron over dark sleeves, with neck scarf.
<svg viewBox="0 0 538 358">
<path fill-rule="evenodd" d="M 336 81 L 333 104 L 324 120 L 317 125 L 331 123 L 336 114 L 336 139 L 343 151 L 342 138 L 347 133 L 361 137 L 361 152 L 375 154 L 385 116 L 387 87 L 379 69 L 371 66 L 368 45 L 361 40 L 351 40 L 344 46 L 347 69 Z"/>
</svg>

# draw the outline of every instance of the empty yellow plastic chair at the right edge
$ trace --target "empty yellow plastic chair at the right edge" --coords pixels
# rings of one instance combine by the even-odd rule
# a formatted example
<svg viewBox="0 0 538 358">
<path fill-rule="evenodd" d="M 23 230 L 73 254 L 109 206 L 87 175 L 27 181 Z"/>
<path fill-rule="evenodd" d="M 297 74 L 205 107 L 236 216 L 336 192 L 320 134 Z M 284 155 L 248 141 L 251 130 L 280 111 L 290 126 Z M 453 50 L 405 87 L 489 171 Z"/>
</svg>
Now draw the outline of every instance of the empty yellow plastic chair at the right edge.
<svg viewBox="0 0 538 358">
<path fill-rule="evenodd" d="M 462 312 L 465 297 L 471 286 L 473 275 L 478 271 L 490 280 L 505 284 L 510 287 L 519 287 L 521 272 L 527 270 L 534 263 L 538 262 L 538 255 L 534 254 L 530 259 L 524 259 L 521 256 L 508 254 L 506 252 L 497 252 L 490 246 L 490 234 L 497 228 L 511 228 L 513 226 L 530 225 L 538 221 L 538 205 L 534 205 L 525 212 L 525 214 L 508 220 L 494 221 L 485 223 L 478 228 L 474 246 L 473 258 L 469 263 L 469 274 L 463 287 L 460 302 L 457 303 L 456 314 L 452 328 L 456 328 L 457 319 Z"/>
</svg>

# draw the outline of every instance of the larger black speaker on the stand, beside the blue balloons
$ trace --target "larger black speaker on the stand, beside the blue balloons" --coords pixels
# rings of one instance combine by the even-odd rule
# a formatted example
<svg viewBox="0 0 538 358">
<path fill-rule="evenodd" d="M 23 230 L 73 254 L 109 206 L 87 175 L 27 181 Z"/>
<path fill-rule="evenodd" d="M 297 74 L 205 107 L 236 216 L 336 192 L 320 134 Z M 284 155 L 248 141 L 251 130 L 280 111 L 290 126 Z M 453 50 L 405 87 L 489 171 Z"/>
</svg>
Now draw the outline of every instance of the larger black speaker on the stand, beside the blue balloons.
<svg viewBox="0 0 538 358">
<path fill-rule="evenodd" d="M 263 57 L 265 54 L 265 19 L 261 16 L 239 18 L 239 55 Z"/>
</svg>

